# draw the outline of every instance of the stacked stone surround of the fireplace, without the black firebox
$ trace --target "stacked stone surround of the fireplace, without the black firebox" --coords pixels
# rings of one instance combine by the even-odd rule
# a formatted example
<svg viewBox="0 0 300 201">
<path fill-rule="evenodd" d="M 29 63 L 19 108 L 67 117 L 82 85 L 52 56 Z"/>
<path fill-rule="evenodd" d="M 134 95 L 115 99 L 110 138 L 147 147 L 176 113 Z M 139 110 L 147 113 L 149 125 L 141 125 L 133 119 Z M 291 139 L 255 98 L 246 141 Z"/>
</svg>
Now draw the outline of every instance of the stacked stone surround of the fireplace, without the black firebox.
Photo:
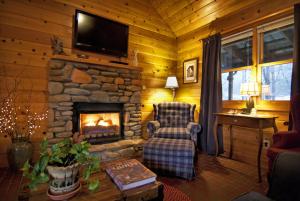
<svg viewBox="0 0 300 201">
<path fill-rule="evenodd" d="M 57 142 L 73 135 L 74 102 L 124 103 L 124 137 L 141 138 L 141 72 L 53 59 L 49 62 L 47 137 Z"/>
</svg>

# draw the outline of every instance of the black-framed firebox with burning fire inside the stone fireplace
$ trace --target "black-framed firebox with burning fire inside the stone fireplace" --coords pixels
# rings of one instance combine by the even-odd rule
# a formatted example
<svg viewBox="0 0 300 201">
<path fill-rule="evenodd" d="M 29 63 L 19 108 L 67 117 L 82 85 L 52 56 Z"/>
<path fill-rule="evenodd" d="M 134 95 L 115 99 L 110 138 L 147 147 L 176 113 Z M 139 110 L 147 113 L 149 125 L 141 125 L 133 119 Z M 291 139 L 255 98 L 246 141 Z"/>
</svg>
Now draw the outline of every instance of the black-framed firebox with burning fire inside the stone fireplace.
<svg viewBox="0 0 300 201">
<path fill-rule="evenodd" d="M 123 104 L 74 103 L 73 132 L 80 132 L 92 144 L 123 138 Z"/>
</svg>

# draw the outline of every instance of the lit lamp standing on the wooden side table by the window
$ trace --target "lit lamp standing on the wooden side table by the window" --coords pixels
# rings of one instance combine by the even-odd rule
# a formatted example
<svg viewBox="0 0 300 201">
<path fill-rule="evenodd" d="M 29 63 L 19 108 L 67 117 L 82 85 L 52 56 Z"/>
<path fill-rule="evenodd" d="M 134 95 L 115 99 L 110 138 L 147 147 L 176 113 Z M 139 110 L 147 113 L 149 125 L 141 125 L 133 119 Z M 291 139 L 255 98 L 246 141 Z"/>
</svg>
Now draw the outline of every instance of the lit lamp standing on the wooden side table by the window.
<svg viewBox="0 0 300 201">
<path fill-rule="evenodd" d="M 240 94 L 242 96 L 248 96 L 248 101 L 246 103 L 246 113 L 250 114 L 252 108 L 255 108 L 253 96 L 259 96 L 257 82 L 242 83 L 241 89 L 240 89 Z"/>
</svg>

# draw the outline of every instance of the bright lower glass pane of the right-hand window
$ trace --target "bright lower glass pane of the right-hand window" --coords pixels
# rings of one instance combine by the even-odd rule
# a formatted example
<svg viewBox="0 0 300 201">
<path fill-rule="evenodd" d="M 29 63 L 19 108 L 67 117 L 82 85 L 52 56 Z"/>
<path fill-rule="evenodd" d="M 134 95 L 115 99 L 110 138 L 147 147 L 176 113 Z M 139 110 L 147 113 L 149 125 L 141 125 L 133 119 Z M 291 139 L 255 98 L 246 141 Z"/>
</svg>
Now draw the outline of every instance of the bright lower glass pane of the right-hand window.
<svg viewBox="0 0 300 201">
<path fill-rule="evenodd" d="M 290 100 L 292 63 L 262 67 L 262 99 Z"/>
</svg>

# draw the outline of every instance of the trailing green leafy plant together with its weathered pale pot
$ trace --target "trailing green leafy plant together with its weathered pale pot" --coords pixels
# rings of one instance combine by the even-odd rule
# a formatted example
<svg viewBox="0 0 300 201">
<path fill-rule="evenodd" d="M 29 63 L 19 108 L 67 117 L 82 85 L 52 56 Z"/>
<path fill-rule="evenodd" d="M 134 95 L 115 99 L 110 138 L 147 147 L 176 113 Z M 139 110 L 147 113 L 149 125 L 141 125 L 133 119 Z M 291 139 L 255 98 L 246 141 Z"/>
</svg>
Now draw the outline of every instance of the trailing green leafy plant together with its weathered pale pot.
<svg viewBox="0 0 300 201">
<path fill-rule="evenodd" d="M 79 169 L 83 167 L 83 179 L 91 191 L 99 187 L 98 179 L 90 179 L 90 175 L 99 169 L 99 160 L 89 153 L 90 144 L 86 141 L 74 143 L 70 138 L 48 148 L 45 139 L 40 145 L 40 158 L 32 167 L 27 161 L 23 174 L 29 179 L 28 187 L 49 181 L 48 196 L 50 198 L 67 199 L 76 194 L 81 185 Z"/>
</svg>

